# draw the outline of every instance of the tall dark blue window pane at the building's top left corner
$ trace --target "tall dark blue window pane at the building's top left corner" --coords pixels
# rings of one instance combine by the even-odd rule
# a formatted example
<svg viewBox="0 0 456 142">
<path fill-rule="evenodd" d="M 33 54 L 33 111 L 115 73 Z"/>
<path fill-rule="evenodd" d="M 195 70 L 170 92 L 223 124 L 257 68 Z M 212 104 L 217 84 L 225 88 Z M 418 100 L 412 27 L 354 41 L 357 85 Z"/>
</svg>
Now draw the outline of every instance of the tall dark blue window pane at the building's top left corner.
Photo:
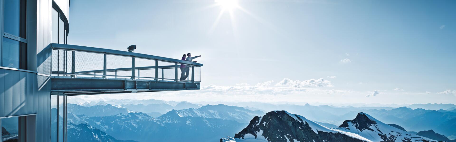
<svg viewBox="0 0 456 142">
<path fill-rule="evenodd" d="M 5 0 L 6 33 L 26 38 L 26 0 Z"/>
</svg>

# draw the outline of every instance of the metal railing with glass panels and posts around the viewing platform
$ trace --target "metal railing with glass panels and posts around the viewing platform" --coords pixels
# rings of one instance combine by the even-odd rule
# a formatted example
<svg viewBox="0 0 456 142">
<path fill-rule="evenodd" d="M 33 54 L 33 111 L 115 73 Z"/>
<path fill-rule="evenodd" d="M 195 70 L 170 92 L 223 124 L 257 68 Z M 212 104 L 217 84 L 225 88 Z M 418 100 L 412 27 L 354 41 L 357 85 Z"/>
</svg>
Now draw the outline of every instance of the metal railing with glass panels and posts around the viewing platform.
<svg viewBox="0 0 456 142">
<path fill-rule="evenodd" d="M 103 48 L 51 44 L 52 76 L 201 81 L 200 63 Z M 181 80 L 181 65 L 188 77 Z"/>
</svg>

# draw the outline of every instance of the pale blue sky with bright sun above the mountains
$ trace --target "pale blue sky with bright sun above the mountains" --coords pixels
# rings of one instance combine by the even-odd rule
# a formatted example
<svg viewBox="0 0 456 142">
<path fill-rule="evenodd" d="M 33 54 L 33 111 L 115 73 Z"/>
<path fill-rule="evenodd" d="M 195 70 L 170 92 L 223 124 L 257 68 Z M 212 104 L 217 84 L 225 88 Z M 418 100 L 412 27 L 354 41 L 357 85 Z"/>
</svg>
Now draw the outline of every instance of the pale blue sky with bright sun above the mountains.
<svg viewBox="0 0 456 142">
<path fill-rule="evenodd" d="M 115 50 L 135 44 L 135 52 L 177 59 L 202 55 L 202 90 L 144 98 L 456 102 L 455 1 L 239 0 L 223 13 L 216 4 L 71 1 L 68 43 Z"/>
</svg>

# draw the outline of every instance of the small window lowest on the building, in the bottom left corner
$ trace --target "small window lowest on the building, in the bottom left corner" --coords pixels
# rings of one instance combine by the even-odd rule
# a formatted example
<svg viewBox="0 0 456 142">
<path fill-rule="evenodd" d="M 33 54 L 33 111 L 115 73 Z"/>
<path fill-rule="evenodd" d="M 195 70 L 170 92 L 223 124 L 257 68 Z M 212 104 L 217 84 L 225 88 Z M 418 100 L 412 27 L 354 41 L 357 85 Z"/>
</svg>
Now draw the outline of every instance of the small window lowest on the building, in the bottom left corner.
<svg viewBox="0 0 456 142">
<path fill-rule="evenodd" d="M 19 141 L 19 117 L 3 118 L 1 120 L 1 142 Z"/>
</svg>

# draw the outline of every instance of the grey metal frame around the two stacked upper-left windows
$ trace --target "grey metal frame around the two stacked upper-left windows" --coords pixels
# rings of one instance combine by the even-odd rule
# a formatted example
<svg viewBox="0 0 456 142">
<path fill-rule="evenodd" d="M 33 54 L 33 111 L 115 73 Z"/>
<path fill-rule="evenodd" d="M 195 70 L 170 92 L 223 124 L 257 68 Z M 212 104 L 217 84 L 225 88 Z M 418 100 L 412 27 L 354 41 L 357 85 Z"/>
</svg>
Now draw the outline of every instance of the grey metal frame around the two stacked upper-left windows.
<svg viewBox="0 0 456 142">
<path fill-rule="evenodd" d="M 24 0 L 24 2 L 27 2 L 27 0 Z M 27 8 L 28 8 L 28 5 L 27 3 L 25 4 L 26 6 L 24 7 L 25 8 L 25 13 L 27 13 Z M 19 41 L 19 42 L 23 42 L 26 44 L 26 50 L 25 50 L 25 61 L 24 64 L 25 65 L 19 65 L 19 68 L 17 69 L 22 69 L 22 70 L 28 70 L 28 61 L 27 61 L 27 57 L 28 57 L 28 52 L 27 52 L 27 49 L 28 49 L 28 41 L 27 41 L 27 38 L 28 38 L 28 26 L 26 26 L 25 30 L 26 30 L 26 38 L 22 38 L 20 36 L 16 36 L 16 35 L 12 35 L 12 34 L 9 34 L 9 33 L 6 33 L 5 32 L 5 20 L 3 19 L 5 17 L 5 0 L 1 0 L 1 4 L 0 4 L 0 19 L 1 19 L 1 38 L 0 38 L 0 66 L 2 67 L 7 67 L 7 68 L 12 68 L 12 69 L 16 69 L 16 68 L 13 68 L 13 67 L 8 67 L 8 66 L 4 66 L 3 65 L 3 37 L 6 37 L 6 38 L 10 38 L 12 40 L 16 40 L 16 41 Z M 28 15 L 26 14 L 26 20 L 24 22 L 27 23 L 27 20 L 28 20 Z M 18 55 L 18 56 L 21 56 L 21 53 Z M 21 58 L 21 57 L 19 57 Z M 25 68 L 21 68 L 21 66 L 24 66 Z"/>
</svg>

